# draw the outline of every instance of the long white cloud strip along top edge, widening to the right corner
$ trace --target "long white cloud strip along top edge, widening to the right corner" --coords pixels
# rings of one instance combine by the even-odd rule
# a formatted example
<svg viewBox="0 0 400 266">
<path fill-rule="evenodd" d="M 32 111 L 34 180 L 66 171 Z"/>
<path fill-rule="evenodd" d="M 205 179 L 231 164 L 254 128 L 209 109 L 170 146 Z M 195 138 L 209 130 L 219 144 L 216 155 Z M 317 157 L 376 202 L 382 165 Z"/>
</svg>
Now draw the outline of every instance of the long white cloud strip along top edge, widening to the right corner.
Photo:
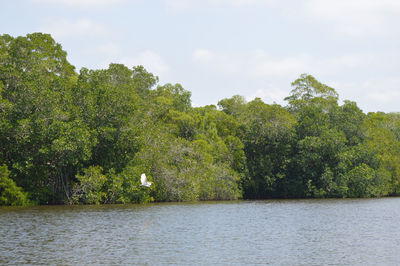
<svg viewBox="0 0 400 266">
<path fill-rule="evenodd" d="M 265 9 L 266 14 L 285 10 L 289 17 L 311 19 L 339 36 L 364 38 L 400 34 L 400 1 L 398 0 L 164 0 L 174 12 L 225 10 L 226 8 Z M 298 8 L 299 7 L 299 8 Z"/>
</svg>

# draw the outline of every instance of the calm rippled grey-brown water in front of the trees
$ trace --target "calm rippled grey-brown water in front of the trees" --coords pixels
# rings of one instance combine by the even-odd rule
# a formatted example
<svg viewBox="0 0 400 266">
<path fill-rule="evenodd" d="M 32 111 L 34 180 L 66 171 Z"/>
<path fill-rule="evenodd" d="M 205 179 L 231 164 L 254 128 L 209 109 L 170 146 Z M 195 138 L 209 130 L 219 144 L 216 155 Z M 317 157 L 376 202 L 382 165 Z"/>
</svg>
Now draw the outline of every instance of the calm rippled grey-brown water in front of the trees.
<svg viewBox="0 0 400 266">
<path fill-rule="evenodd" d="M 400 198 L 2 207 L 0 264 L 399 265 Z"/>
</svg>

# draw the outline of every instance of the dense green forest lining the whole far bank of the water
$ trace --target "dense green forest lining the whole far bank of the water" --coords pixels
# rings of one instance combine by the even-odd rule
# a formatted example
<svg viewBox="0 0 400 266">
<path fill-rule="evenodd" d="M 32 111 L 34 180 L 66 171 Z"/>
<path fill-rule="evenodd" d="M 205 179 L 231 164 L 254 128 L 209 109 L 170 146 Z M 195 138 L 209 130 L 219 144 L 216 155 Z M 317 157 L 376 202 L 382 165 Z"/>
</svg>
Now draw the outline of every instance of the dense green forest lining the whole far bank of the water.
<svg viewBox="0 0 400 266">
<path fill-rule="evenodd" d="M 400 114 L 340 105 L 311 75 L 287 106 L 192 107 L 143 66 L 77 73 L 66 56 L 48 34 L 0 36 L 0 205 L 400 193 Z"/>
</svg>

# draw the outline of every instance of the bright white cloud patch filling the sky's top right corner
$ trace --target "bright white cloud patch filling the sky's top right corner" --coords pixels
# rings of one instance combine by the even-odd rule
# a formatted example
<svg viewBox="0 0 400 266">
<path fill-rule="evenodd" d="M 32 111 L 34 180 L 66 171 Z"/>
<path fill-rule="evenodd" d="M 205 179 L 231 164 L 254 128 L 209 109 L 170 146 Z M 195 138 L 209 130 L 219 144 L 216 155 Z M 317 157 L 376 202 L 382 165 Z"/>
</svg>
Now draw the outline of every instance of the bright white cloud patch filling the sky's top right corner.
<svg viewBox="0 0 400 266">
<path fill-rule="evenodd" d="M 398 0 L 306 0 L 305 10 L 317 21 L 332 23 L 336 33 L 365 37 L 398 33 Z"/>
</svg>

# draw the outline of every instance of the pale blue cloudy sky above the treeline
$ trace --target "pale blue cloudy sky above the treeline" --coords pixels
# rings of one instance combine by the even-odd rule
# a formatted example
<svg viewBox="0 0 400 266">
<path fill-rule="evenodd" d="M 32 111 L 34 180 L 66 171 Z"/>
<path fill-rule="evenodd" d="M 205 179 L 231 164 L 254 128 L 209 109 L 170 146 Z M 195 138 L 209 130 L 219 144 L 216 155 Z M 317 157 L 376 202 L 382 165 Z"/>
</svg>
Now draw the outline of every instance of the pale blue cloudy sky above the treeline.
<svg viewBox="0 0 400 266">
<path fill-rule="evenodd" d="M 143 65 L 192 105 L 286 105 L 313 75 L 364 112 L 400 112 L 399 0 L 0 0 L 0 34 L 50 33 L 79 71 Z"/>
</svg>

